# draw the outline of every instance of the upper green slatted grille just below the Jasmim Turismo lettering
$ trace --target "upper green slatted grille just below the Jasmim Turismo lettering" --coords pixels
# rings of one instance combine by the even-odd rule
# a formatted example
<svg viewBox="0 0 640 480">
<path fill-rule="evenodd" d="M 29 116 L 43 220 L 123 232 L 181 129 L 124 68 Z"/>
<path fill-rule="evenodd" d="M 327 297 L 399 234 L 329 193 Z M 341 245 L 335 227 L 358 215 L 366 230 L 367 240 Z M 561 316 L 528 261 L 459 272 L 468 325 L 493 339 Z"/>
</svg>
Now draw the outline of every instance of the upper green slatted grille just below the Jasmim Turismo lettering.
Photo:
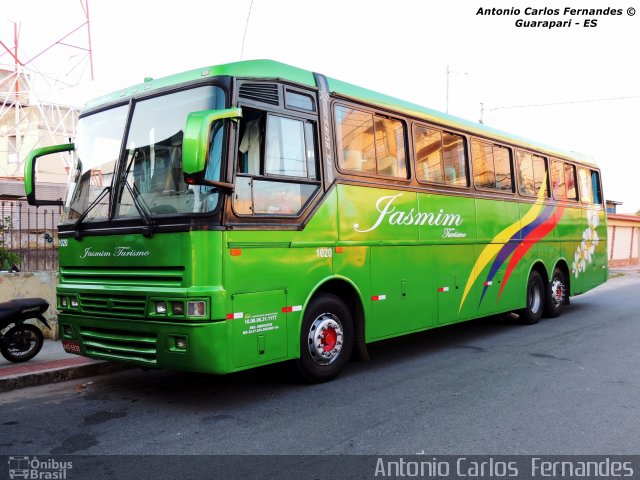
<svg viewBox="0 0 640 480">
<path fill-rule="evenodd" d="M 180 287 L 184 267 L 60 267 L 61 283 Z"/>
</svg>

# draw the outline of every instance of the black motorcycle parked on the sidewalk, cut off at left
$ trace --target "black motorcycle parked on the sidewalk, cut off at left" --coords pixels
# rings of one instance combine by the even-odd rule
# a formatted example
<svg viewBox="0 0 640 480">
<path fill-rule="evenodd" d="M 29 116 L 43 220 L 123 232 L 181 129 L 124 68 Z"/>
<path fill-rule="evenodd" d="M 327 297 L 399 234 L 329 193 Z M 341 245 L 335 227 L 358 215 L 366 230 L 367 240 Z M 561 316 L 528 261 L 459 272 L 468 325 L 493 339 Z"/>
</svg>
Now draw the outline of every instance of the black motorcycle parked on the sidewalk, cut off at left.
<svg viewBox="0 0 640 480">
<path fill-rule="evenodd" d="M 4 358 L 18 363 L 31 360 L 38 354 L 44 344 L 44 334 L 25 320 L 37 318 L 51 329 L 42 316 L 48 308 L 49 303 L 42 298 L 0 302 L 0 353 Z"/>
</svg>

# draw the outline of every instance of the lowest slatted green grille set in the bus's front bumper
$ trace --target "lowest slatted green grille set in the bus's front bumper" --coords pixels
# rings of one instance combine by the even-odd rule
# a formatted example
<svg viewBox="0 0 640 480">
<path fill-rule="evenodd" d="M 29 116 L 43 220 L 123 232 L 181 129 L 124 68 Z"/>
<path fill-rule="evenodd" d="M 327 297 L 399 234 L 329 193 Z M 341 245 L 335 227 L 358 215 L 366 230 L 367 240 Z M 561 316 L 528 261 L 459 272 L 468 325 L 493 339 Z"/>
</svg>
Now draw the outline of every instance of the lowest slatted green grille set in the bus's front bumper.
<svg viewBox="0 0 640 480">
<path fill-rule="evenodd" d="M 80 337 L 87 355 L 105 360 L 157 363 L 158 337 L 151 332 L 81 327 Z"/>
</svg>

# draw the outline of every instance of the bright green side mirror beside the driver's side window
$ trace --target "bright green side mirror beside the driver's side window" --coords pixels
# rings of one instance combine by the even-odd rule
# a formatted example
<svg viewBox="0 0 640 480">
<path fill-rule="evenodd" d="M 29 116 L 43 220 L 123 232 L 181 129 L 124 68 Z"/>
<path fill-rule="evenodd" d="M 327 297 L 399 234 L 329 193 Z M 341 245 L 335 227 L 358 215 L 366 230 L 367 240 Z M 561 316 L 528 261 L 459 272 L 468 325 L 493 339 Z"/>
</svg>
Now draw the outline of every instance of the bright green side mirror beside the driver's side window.
<svg viewBox="0 0 640 480">
<path fill-rule="evenodd" d="M 226 110 L 203 110 L 190 113 L 184 129 L 182 140 L 182 171 L 185 179 L 192 179 L 204 174 L 209 154 L 209 132 L 211 125 L 222 118 L 241 118 L 241 108 L 228 108 Z"/>
</svg>

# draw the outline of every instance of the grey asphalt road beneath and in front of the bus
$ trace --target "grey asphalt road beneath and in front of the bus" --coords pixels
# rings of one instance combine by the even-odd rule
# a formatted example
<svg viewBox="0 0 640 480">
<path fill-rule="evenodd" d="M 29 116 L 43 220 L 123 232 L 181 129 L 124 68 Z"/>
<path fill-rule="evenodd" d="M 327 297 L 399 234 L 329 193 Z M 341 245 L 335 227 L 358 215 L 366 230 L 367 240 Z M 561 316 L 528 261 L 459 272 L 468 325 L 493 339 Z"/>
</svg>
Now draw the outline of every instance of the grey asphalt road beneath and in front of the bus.
<svg viewBox="0 0 640 480">
<path fill-rule="evenodd" d="M 0 454 L 640 452 L 640 274 L 558 319 L 387 341 L 336 381 L 131 370 L 2 394 Z"/>
</svg>

